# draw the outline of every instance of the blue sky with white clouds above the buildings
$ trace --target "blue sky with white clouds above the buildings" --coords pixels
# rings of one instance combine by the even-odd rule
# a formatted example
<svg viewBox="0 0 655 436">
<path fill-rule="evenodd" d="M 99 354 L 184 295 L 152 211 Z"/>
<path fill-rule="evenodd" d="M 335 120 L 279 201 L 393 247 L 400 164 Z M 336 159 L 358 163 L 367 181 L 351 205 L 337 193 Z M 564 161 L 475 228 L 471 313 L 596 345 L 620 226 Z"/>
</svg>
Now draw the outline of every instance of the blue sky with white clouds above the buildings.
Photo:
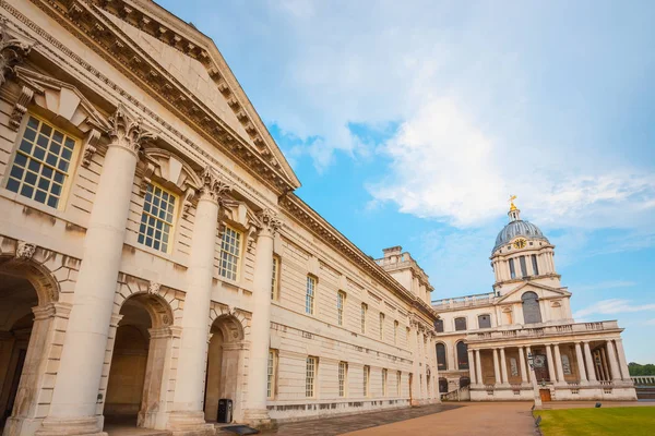
<svg viewBox="0 0 655 436">
<path fill-rule="evenodd" d="M 488 292 L 516 194 L 576 319 L 655 363 L 655 3 L 160 0 L 214 39 L 302 187 L 433 299 Z"/>
</svg>

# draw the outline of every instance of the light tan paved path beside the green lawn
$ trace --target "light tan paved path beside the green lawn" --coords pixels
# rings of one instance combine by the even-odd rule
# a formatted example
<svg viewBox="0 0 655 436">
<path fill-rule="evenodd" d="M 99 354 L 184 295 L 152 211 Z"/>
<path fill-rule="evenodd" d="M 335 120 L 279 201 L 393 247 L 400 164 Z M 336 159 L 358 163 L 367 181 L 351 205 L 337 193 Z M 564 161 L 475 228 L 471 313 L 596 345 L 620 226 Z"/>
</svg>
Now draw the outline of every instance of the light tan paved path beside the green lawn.
<svg viewBox="0 0 655 436">
<path fill-rule="evenodd" d="M 344 433 L 344 436 L 534 436 L 538 433 L 531 414 L 531 407 L 532 402 L 467 403 L 443 413 Z"/>
</svg>

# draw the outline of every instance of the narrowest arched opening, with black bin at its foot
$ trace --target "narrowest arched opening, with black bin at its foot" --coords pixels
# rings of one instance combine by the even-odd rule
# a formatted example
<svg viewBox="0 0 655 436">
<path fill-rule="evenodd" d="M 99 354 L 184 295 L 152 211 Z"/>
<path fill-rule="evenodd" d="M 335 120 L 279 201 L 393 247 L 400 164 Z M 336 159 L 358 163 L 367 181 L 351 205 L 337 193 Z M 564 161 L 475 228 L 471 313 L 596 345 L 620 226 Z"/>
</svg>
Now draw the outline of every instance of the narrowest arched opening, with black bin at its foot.
<svg viewBox="0 0 655 436">
<path fill-rule="evenodd" d="M 218 401 L 233 401 L 233 421 L 240 416 L 243 327 L 234 316 L 221 316 L 212 324 L 205 379 L 205 421 L 218 420 Z"/>
</svg>

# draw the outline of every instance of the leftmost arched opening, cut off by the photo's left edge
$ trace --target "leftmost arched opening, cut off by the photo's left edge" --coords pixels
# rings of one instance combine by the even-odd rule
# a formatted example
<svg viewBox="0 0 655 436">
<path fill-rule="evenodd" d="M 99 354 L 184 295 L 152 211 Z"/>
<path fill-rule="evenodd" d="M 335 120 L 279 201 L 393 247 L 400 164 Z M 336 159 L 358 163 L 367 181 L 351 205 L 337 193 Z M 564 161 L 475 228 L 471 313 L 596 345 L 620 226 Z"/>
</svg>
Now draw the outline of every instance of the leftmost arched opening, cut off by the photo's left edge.
<svg viewBox="0 0 655 436">
<path fill-rule="evenodd" d="M 0 258 L 0 429 L 29 432 L 36 422 L 52 349 L 57 282 L 28 259 Z"/>
</svg>

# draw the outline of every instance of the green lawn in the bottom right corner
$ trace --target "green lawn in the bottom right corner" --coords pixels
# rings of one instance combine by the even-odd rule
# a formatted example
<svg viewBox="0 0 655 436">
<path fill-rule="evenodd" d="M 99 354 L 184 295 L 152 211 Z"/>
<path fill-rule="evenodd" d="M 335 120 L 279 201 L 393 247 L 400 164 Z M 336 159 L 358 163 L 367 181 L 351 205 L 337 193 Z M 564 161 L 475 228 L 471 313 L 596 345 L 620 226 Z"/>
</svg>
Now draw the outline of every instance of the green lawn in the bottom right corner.
<svg viewBox="0 0 655 436">
<path fill-rule="evenodd" d="M 655 407 L 540 410 L 544 436 L 652 436 Z"/>
</svg>

